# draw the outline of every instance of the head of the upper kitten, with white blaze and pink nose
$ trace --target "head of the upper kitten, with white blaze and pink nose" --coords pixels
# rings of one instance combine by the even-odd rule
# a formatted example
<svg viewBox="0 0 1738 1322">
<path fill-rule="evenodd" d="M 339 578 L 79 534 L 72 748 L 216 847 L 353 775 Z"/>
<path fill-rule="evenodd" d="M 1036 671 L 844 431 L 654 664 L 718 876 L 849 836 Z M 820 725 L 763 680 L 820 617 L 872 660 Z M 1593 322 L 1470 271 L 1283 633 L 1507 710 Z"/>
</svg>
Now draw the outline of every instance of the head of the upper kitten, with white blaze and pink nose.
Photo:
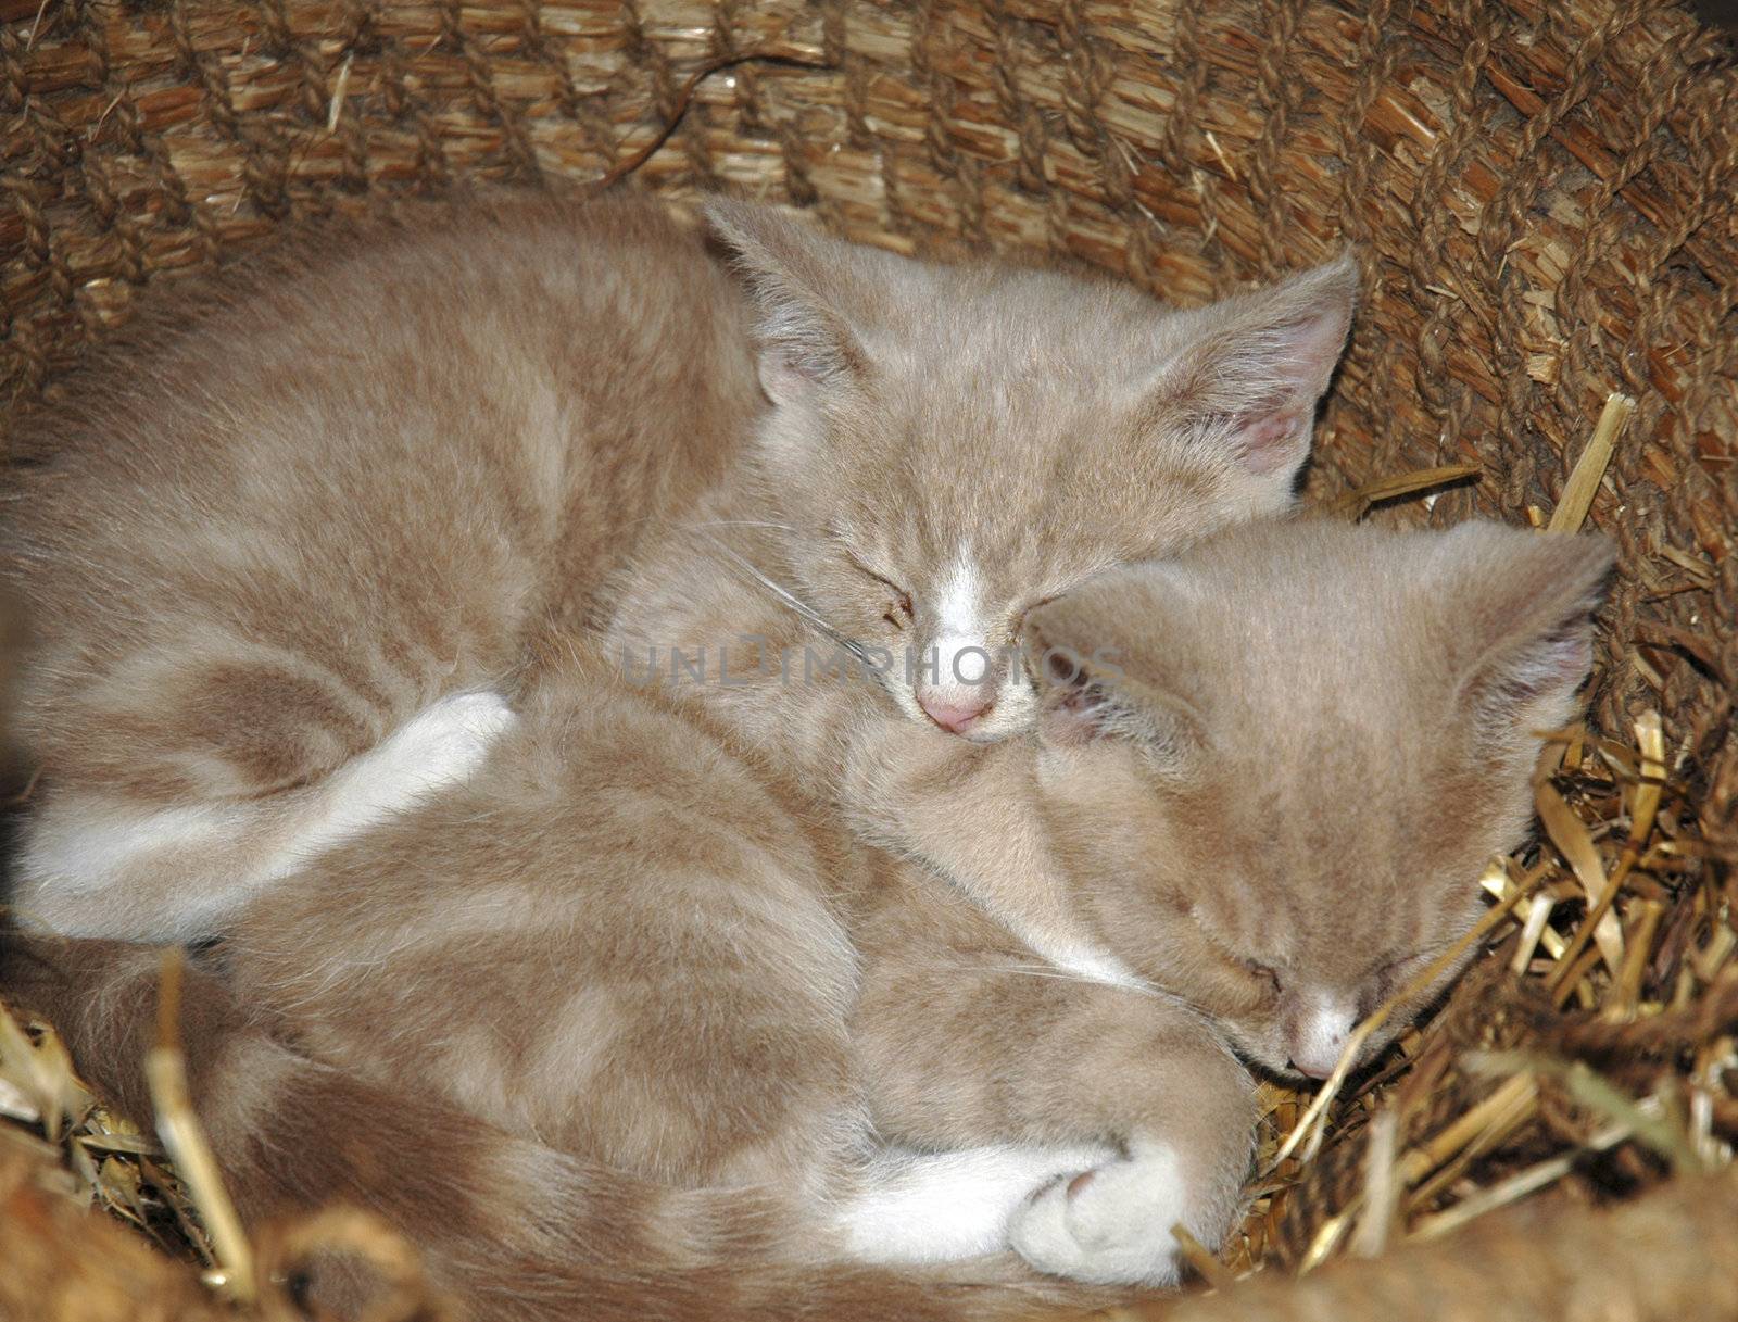
<svg viewBox="0 0 1738 1322">
<path fill-rule="evenodd" d="M 1290 507 L 1357 290 L 1340 257 L 1184 313 L 709 214 L 760 307 L 782 585 L 876 653 L 909 716 L 980 740 L 1036 714 L 1027 610 Z"/>
</svg>

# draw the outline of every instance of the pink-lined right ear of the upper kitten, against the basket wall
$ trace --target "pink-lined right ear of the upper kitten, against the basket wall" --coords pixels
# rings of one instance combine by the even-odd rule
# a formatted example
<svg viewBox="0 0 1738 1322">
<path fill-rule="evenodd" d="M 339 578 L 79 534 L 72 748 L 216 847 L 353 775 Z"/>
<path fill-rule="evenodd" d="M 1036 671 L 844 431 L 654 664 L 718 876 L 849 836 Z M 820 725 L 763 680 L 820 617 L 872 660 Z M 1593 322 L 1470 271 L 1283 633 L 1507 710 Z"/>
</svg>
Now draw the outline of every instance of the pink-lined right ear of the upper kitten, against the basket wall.
<svg viewBox="0 0 1738 1322">
<path fill-rule="evenodd" d="M 1264 511 L 1290 506 L 1309 459 L 1316 405 L 1345 347 L 1357 262 L 1326 266 L 1189 314 L 1189 344 L 1166 365 L 1158 405 L 1220 450 Z"/>
</svg>

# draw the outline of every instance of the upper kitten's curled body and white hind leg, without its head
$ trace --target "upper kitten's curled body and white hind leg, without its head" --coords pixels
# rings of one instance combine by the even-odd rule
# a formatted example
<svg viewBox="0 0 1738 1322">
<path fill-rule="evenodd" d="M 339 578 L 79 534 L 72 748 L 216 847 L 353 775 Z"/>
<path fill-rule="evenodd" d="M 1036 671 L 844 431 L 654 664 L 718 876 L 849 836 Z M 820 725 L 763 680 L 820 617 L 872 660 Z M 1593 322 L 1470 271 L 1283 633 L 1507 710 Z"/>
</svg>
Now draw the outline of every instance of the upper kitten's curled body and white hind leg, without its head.
<svg viewBox="0 0 1738 1322">
<path fill-rule="evenodd" d="M 532 636 L 763 408 L 749 311 L 645 202 L 316 229 L 169 297 L 33 436 L 0 570 L 42 766 L 16 905 L 193 936 L 462 780 Z"/>
</svg>

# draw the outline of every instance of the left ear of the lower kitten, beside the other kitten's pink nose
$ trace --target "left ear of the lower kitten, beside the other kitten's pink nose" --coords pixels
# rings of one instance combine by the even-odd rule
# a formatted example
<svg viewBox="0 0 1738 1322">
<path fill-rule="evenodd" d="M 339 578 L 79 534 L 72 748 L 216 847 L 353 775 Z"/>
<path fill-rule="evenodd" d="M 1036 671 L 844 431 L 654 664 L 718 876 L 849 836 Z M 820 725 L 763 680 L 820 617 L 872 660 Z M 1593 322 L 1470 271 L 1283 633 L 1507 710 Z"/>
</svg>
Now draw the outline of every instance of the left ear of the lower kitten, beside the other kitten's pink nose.
<svg viewBox="0 0 1738 1322">
<path fill-rule="evenodd" d="M 1206 744 L 1199 712 L 1164 674 L 1164 610 L 1133 566 L 1100 575 L 1027 613 L 1020 643 L 1039 690 L 1045 744 L 1121 738 L 1173 773 Z"/>
</svg>

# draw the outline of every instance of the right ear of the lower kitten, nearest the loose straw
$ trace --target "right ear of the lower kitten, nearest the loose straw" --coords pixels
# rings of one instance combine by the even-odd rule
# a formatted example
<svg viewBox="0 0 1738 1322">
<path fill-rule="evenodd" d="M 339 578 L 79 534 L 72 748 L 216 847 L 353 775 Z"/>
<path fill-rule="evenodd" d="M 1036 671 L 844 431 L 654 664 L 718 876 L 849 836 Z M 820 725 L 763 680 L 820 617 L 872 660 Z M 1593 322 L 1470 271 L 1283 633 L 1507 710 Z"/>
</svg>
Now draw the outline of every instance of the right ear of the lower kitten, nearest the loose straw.
<svg viewBox="0 0 1738 1322">
<path fill-rule="evenodd" d="M 1604 601 L 1616 547 L 1597 533 L 1566 537 L 1462 523 L 1441 558 L 1456 605 L 1456 704 L 1528 735 L 1575 719 L 1575 691 L 1594 664 L 1592 615 Z"/>
</svg>

